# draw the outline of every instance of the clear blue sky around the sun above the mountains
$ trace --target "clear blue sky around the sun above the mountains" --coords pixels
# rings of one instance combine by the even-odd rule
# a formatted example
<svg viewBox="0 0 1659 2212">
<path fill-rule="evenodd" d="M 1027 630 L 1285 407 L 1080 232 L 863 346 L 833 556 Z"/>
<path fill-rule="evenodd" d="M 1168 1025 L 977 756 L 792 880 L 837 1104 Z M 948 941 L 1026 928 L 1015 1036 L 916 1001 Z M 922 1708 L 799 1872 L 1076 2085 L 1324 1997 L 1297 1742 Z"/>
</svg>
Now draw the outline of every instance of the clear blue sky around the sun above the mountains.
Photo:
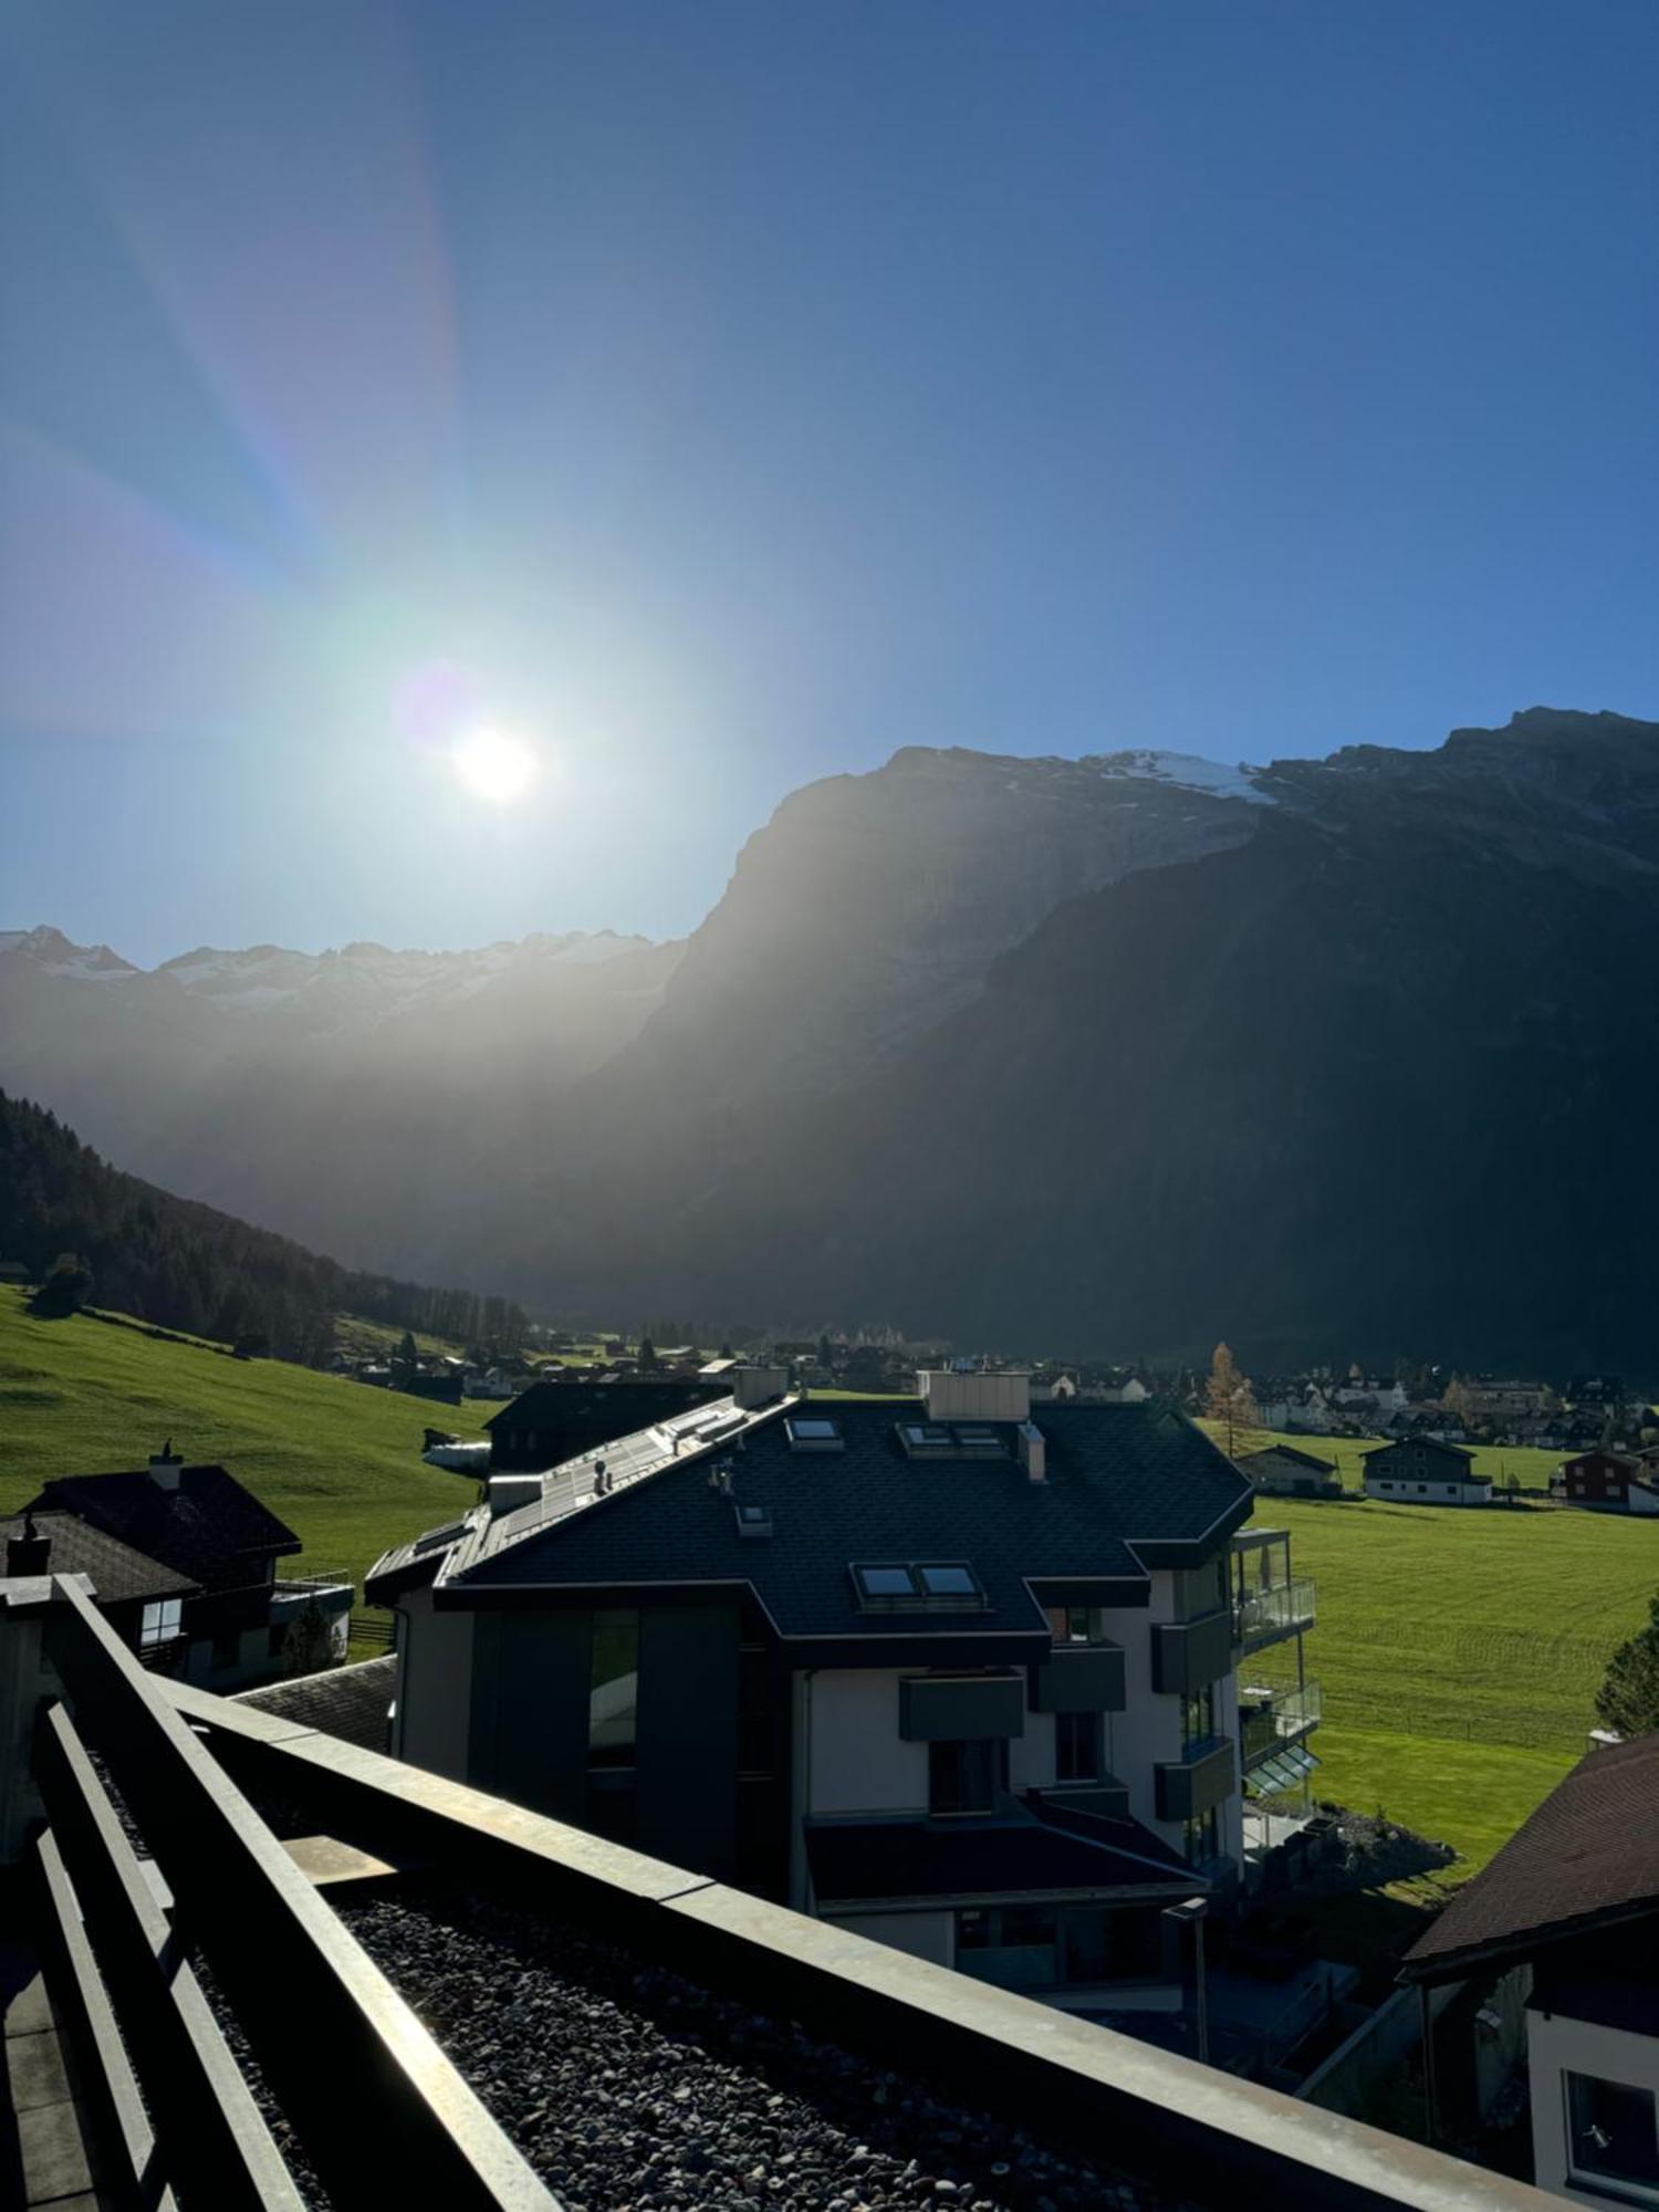
<svg viewBox="0 0 1659 2212">
<path fill-rule="evenodd" d="M 670 933 L 905 743 L 1659 714 L 1652 0 L 11 0 L 0 86 L 0 927 Z"/>
</svg>

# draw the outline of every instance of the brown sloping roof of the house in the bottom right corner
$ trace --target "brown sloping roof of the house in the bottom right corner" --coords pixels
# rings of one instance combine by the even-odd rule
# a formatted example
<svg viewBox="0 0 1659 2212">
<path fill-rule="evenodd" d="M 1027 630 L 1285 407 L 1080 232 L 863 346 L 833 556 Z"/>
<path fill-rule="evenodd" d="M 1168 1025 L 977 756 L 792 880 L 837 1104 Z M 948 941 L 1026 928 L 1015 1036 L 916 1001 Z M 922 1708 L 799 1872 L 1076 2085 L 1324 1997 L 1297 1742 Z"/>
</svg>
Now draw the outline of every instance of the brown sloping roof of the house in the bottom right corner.
<svg viewBox="0 0 1659 2212">
<path fill-rule="evenodd" d="M 1659 1913 L 1659 1734 L 1582 1759 L 1405 1955 L 1402 1982 L 1458 1980 L 1566 1936 Z"/>
</svg>

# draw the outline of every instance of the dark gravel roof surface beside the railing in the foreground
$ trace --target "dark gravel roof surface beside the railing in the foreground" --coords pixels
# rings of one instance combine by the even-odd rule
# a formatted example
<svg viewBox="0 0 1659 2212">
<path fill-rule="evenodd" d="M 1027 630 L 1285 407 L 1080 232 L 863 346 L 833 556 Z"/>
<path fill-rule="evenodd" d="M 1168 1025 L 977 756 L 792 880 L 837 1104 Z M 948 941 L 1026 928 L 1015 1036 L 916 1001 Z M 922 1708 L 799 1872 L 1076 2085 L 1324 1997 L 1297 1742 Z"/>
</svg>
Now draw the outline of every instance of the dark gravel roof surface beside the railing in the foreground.
<svg viewBox="0 0 1659 2212">
<path fill-rule="evenodd" d="M 438 1887 L 341 1900 L 566 2212 L 1177 2212 L 622 1951 Z"/>
</svg>

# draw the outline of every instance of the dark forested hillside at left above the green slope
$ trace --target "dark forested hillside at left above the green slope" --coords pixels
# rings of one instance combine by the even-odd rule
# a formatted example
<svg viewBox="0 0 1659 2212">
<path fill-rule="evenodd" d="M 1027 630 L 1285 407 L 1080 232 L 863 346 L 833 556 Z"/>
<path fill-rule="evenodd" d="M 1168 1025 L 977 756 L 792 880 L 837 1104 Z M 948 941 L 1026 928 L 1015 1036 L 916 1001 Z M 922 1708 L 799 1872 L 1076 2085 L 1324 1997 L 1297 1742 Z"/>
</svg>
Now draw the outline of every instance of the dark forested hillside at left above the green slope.
<svg viewBox="0 0 1659 2212">
<path fill-rule="evenodd" d="M 363 1274 L 124 1175 L 73 1130 L 0 1091 L 0 1261 L 40 1283 L 44 1314 L 106 1305 L 164 1329 L 321 1367 L 334 1316 L 489 1343 L 524 1340 L 509 1298 Z"/>
</svg>

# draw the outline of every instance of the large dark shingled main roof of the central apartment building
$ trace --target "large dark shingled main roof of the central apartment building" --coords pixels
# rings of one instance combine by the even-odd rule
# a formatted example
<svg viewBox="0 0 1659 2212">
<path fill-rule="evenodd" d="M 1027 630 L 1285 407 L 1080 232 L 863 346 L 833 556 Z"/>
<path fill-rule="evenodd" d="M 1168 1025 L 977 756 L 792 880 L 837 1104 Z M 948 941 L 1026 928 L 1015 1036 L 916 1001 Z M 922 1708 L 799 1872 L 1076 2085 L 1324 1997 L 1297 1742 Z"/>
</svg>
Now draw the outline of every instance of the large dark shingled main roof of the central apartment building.
<svg viewBox="0 0 1659 2212">
<path fill-rule="evenodd" d="M 834 1420 L 843 1449 L 792 1449 L 787 1422 L 803 1411 Z M 679 1458 L 628 1440 L 606 1455 L 622 1464 L 637 1449 L 639 1467 L 611 1495 L 573 1469 L 549 1484 L 546 1504 L 495 1524 L 476 1517 L 460 1542 L 434 1544 L 438 1597 L 750 1584 L 785 1637 L 1031 1635 L 1046 1630 L 1031 1582 L 1144 1584 L 1152 1564 L 1192 1559 L 1250 1515 L 1250 1482 L 1181 1413 L 1152 1402 L 1037 1413 L 1046 1482 L 1026 1478 L 1006 1422 L 987 1425 L 1004 1447 L 995 1458 L 909 1458 L 898 1425 L 927 1418 L 920 1400 L 785 1400 Z M 710 1486 L 712 1467 L 730 1469 L 730 1495 Z M 763 1506 L 772 1533 L 739 1535 L 737 1504 Z M 403 1553 L 374 1575 L 396 1559 Z M 967 1562 L 987 1606 L 863 1610 L 852 1564 L 891 1559 Z"/>
</svg>

